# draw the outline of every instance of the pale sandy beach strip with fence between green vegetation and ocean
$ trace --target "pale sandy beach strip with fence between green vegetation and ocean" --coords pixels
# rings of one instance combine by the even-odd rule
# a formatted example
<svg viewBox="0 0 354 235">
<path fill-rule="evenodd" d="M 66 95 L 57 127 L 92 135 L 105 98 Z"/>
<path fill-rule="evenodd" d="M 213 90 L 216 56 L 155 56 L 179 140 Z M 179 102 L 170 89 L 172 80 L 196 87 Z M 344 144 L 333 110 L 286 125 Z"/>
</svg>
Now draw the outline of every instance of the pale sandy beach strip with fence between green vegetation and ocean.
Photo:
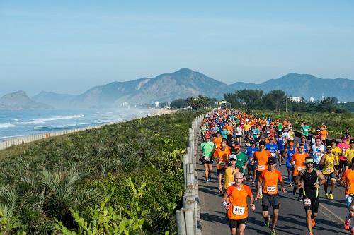
<svg viewBox="0 0 354 235">
<path fill-rule="evenodd" d="M 149 114 L 144 114 L 141 116 L 134 116 L 132 119 L 127 119 L 125 121 L 130 121 L 130 120 L 134 120 L 134 119 L 142 119 L 147 116 L 159 116 L 159 115 L 164 115 L 164 114 L 171 114 L 173 112 L 177 112 L 177 110 L 153 108 L 152 112 Z M 17 137 L 17 138 L 9 138 L 9 139 L 5 139 L 0 142 L 0 150 L 4 150 L 8 147 L 11 147 L 12 145 L 21 145 L 23 143 L 30 143 L 30 142 L 33 142 L 36 140 L 55 137 L 55 136 L 59 136 L 59 135 L 67 135 L 69 133 L 75 133 L 78 131 L 86 131 L 86 130 L 90 130 L 90 129 L 96 129 L 96 128 L 100 128 L 101 126 L 111 125 L 111 124 L 115 124 L 115 123 L 122 123 L 122 122 L 124 122 L 124 121 L 115 121 L 115 122 L 110 122 L 110 123 L 103 123 L 101 125 L 96 125 L 96 126 L 86 126 L 83 128 L 73 128 L 73 129 L 68 129 L 68 130 L 64 130 L 64 131 L 53 131 L 53 132 L 36 134 L 36 135 L 24 135 L 24 136 Z"/>
</svg>

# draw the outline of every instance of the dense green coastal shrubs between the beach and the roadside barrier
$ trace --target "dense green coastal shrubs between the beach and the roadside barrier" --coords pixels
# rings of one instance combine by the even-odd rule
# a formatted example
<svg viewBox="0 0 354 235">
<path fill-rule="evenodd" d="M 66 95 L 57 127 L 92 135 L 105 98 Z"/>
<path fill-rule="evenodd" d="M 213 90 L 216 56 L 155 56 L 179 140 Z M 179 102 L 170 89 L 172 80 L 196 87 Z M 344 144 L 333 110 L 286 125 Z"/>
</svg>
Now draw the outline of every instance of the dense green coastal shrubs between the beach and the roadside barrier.
<svg viewBox="0 0 354 235">
<path fill-rule="evenodd" d="M 135 119 L 0 151 L 1 233 L 175 234 L 181 157 L 190 123 L 202 112 Z"/>
</svg>

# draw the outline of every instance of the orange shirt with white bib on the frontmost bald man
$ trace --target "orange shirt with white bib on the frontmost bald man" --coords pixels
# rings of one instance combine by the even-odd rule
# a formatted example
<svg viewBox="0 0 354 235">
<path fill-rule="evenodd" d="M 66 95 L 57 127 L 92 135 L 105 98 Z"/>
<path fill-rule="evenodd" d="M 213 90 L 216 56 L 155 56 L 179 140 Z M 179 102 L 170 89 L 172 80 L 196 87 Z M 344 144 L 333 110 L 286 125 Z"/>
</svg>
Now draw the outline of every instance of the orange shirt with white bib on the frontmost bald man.
<svg viewBox="0 0 354 235">
<path fill-rule="evenodd" d="M 227 217 L 229 219 L 246 219 L 249 217 L 249 210 L 247 205 L 247 196 L 252 196 L 252 191 L 249 186 L 242 185 L 241 189 L 236 186 L 229 186 L 226 190 L 229 196 L 230 207 L 227 210 Z"/>
</svg>

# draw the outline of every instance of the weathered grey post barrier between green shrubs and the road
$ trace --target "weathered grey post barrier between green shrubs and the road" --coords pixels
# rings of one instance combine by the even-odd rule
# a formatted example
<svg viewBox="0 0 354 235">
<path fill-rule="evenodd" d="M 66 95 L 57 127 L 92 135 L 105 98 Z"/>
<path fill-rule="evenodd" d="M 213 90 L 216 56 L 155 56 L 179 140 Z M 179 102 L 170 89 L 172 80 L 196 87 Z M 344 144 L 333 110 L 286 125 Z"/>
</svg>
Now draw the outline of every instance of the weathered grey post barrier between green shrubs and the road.
<svg viewBox="0 0 354 235">
<path fill-rule="evenodd" d="M 197 147 L 200 134 L 200 124 L 205 115 L 198 116 L 189 128 L 187 154 L 183 155 L 183 172 L 185 192 L 183 206 L 176 211 L 178 234 L 200 235 L 200 205 L 198 196 Z"/>
</svg>

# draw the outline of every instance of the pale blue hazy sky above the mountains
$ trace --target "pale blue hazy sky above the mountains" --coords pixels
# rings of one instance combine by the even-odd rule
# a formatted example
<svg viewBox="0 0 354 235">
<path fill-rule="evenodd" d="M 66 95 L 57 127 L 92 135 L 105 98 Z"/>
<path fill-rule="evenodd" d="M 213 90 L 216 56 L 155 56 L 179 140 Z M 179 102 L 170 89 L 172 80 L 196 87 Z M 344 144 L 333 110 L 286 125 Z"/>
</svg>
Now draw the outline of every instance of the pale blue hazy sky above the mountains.
<svg viewBox="0 0 354 235">
<path fill-rule="evenodd" d="M 354 79 L 354 1 L 0 0 L 0 95 L 190 68 L 225 83 Z"/>
</svg>

